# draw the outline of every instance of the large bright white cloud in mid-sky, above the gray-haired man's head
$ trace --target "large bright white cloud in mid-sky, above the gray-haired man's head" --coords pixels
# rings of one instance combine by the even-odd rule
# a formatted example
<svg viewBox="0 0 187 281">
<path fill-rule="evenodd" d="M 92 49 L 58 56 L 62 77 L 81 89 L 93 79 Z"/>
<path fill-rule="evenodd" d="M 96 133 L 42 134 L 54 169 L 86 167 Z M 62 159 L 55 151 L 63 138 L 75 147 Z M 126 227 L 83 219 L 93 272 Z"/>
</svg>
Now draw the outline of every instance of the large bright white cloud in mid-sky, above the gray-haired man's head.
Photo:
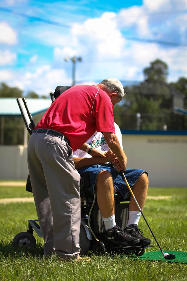
<svg viewBox="0 0 187 281">
<path fill-rule="evenodd" d="M 103 13 L 100 18 L 89 18 L 83 24 L 75 24 L 71 34 L 75 37 L 78 49 L 89 56 L 119 58 L 125 45 L 117 28 L 115 13 Z"/>
</svg>

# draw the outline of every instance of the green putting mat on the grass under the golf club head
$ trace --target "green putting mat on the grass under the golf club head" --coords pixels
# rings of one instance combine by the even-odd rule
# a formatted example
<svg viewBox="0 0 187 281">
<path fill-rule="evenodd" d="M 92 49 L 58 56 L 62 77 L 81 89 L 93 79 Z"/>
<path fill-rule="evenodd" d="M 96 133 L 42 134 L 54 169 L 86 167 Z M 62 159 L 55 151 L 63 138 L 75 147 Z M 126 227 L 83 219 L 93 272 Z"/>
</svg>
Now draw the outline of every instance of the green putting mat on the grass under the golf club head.
<svg viewBox="0 0 187 281">
<path fill-rule="evenodd" d="M 153 251 L 144 253 L 142 256 L 133 256 L 133 259 L 139 258 L 140 260 L 147 260 L 147 261 L 169 261 L 174 263 L 187 263 L 187 252 L 179 252 L 179 251 L 164 251 L 164 253 L 174 254 L 174 260 L 165 260 L 162 256 L 161 251 Z"/>
</svg>

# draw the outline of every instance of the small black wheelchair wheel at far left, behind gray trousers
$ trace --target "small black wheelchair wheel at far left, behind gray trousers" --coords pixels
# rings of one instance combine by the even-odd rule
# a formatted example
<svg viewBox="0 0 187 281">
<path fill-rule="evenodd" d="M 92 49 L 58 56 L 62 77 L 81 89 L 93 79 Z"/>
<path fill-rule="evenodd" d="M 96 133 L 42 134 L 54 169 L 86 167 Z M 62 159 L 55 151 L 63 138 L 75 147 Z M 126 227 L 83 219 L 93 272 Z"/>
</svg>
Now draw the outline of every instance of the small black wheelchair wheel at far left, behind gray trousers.
<svg viewBox="0 0 187 281">
<path fill-rule="evenodd" d="M 14 237 L 12 246 L 14 248 L 33 249 L 36 247 L 36 239 L 29 232 L 20 232 Z"/>
</svg>

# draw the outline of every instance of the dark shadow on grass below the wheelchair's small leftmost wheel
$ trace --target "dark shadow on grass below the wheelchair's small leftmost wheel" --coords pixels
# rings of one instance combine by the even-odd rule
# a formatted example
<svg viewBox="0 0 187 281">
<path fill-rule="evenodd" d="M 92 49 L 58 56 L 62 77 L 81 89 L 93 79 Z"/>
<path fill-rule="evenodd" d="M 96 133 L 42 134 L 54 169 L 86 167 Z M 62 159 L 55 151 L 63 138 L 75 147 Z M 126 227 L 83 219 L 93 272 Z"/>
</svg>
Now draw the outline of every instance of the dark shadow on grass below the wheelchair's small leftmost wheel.
<svg viewBox="0 0 187 281">
<path fill-rule="evenodd" d="M 34 249 L 25 249 L 25 248 L 14 248 L 12 246 L 12 241 L 4 242 L 0 241 L 0 255 L 4 255 L 5 257 L 15 258 L 20 257 L 22 255 L 25 256 L 33 256 L 33 257 L 43 257 L 44 250 L 42 244 L 37 244 Z"/>
</svg>

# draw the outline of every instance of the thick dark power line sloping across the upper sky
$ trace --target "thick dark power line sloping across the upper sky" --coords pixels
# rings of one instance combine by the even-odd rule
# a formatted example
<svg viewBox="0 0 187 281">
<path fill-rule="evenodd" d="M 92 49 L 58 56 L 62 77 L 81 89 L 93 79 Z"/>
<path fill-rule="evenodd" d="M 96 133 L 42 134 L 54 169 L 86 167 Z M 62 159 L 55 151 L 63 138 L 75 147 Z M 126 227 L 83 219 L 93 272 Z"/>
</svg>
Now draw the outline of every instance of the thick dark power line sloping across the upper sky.
<svg viewBox="0 0 187 281">
<path fill-rule="evenodd" d="M 71 25 L 67 25 L 67 24 L 64 24 L 64 23 L 58 23 L 56 21 L 46 20 L 46 19 L 39 18 L 39 17 L 30 16 L 30 15 L 20 13 L 20 12 L 14 11 L 12 9 L 4 8 L 4 7 L 1 7 L 1 6 L 0 6 L 0 10 L 4 11 L 4 12 L 7 12 L 7 13 L 14 14 L 16 16 L 21 16 L 21 17 L 28 18 L 28 19 L 31 19 L 31 20 L 46 23 L 46 24 L 49 24 L 49 25 L 55 25 L 55 26 L 58 26 L 58 27 L 68 28 L 68 29 L 72 28 Z M 93 32 L 93 33 L 96 33 L 96 32 Z M 168 45 L 168 46 L 175 46 L 175 47 L 187 47 L 187 44 L 185 44 L 185 43 L 168 42 L 168 41 L 146 39 L 146 38 L 137 38 L 137 37 L 131 37 L 131 36 L 126 36 L 126 35 L 123 35 L 123 37 L 126 40 L 130 40 L 130 41 L 137 41 L 137 42 L 143 42 L 143 43 L 156 43 L 156 44 L 160 44 L 160 45 Z"/>
</svg>

